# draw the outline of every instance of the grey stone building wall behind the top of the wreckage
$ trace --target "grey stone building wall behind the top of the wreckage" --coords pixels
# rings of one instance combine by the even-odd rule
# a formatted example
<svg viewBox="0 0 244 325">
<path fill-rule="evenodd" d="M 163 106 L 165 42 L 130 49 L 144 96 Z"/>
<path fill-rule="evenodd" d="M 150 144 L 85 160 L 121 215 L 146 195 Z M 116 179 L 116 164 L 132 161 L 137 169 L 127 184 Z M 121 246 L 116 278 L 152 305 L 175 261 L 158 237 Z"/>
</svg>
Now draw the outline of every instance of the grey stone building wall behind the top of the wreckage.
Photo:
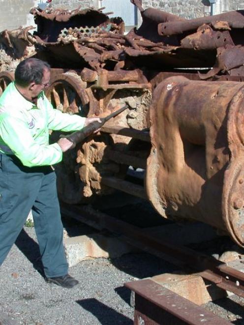
<svg viewBox="0 0 244 325">
<path fill-rule="evenodd" d="M 43 0 L 45 2 L 46 0 Z M 120 0 L 115 0 L 120 1 Z M 128 0 L 129 1 L 129 0 Z M 244 0 L 216 0 L 214 14 L 228 10 L 244 9 Z M 34 25 L 30 8 L 37 6 L 41 0 L 0 0 L 0 31 L 13 30 L 19 26 Z M 192 19 L 210 14 L 210 6 L 204 5 L 208 0 L 142 0 L 143 7 L 158 8 L 181 17 Z M 102 6 L 101 0 L 53 0 L 54 7 L 76 9 Z M 106 9 L 105 9 L 106 12 Z M 138 14 L 140 24 L 140 14 Z"/>
</svg>

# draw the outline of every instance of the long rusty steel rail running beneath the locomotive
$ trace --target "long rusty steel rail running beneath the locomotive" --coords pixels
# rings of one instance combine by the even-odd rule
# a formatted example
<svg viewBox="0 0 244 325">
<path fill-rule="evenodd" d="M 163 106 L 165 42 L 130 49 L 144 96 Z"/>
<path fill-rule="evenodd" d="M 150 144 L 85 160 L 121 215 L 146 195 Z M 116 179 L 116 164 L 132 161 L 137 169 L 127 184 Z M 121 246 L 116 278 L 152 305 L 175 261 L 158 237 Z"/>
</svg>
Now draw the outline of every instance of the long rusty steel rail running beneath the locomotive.
<svg viewBox="0 0 244 325">
<path fill-rule="evenodd" d="M 92 207 L 62 205 L 61 212 L 93 228 L 117 233 L 131 245 L 175 265 L 194 269 L 217 287 L 244 297 L 244 273 L 227 266 L 226 263 L 190 248 L 177 246 L 173 242 L 152 238 L 145 230 L 96 211 Z"/>
</svg>

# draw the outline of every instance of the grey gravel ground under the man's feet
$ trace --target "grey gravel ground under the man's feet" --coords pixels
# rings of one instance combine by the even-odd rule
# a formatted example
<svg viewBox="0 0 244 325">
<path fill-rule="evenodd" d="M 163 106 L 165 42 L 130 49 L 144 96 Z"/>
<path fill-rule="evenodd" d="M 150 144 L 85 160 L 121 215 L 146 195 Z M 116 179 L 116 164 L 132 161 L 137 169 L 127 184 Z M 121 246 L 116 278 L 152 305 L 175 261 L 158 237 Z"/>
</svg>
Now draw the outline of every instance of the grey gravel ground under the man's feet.
<svg viewBox="0 0 244 325">
<path fill-rule="evenodd" d="M 72 227 L 72 221 L 64 224 L 65 234 L 72 236 L 94 232 L 85 225 Z M 223 243 L 228 247 L 228 240 Z M 80 284 L 63 289 L 45 282 L 34 229 L 25 227 L 0 267 L 0 320 L 4 314 L 15 325 L 132 325 L 134 309 L 130 291 L 123 284 L 172 271 L 174 266 L 150 254 L 130 253 L 71 267 L 69 273 Z M 233 295 L 209 302 L 205 308 L 233 324 L 244 325 L 243 306 L 244 299 Z"/>
</svg>

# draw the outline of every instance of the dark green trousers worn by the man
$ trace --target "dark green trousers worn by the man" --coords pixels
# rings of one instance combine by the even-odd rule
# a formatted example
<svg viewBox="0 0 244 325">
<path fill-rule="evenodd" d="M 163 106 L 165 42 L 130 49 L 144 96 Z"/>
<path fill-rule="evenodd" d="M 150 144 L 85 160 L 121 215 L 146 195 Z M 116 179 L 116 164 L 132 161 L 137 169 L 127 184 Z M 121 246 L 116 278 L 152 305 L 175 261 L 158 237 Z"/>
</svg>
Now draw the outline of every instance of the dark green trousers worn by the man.
<svg viewBox="0 0 244 325">
<path fill-rule="evenodd" d="M 50 166 L 25 167 L 15 156 L 0 154 L 0 265 L 31 208 L 45 275 L 67 274 L 54 171 Z"/>
</svg>

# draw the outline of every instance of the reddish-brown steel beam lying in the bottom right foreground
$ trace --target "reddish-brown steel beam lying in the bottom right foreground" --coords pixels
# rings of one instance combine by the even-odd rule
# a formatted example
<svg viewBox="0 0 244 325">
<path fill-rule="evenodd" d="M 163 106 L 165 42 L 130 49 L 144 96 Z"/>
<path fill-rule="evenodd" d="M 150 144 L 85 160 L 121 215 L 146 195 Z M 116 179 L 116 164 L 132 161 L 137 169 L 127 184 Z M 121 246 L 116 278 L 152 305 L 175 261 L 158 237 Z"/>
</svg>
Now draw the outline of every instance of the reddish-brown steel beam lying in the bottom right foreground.
<svg viewBox="0 0 244 325">
<path fill-rule="evenodd" d="M 231 324 L 150 279 L 125 283 L 125 287 L 135 292 L 135 325 Z"/>
</svg>

